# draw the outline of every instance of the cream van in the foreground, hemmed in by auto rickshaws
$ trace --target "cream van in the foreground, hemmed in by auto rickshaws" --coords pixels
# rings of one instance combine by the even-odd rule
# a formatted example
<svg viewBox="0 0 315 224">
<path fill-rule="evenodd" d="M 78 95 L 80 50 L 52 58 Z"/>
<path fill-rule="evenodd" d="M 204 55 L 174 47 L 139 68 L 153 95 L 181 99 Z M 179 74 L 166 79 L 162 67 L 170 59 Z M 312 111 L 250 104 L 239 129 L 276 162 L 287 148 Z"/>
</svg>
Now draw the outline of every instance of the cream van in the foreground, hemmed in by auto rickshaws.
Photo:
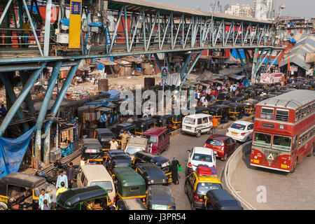
<svg viewBox="0 0 315 224">
<path fill-rule="evenodd" d="M 76 181 L 78 188 L 98 185 L 106 189 L 111 202 L 115 204 L 116 190 L 111 175 L 103 165 L 85 165 L 78 174 Z"/>
</svg>

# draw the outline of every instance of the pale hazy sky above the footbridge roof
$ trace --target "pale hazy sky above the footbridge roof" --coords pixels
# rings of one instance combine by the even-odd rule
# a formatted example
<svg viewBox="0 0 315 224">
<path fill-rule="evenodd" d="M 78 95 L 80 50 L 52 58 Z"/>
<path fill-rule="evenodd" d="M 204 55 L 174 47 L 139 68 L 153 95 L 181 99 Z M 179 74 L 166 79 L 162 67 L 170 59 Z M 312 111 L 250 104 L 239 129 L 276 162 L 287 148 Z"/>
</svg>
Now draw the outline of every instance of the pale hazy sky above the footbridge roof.
<svg viewBox="0 0 315 224">
<path fill-rule="evenodd" d="M 158 3 L 168 3 L 171 5 L 181 6 L 185 8 L 197 8 L 200 6 L 202 10 L 211 10 L 210 4 L 214 3 L 214 0 L 149 0 Z M 286 5 L 286 8 L 282 11 L 282 15 L 298 16 L 305 18 L 315 18 L 315 0 L 275 0 L 276 2 L 276 12 L 280 5 Z M 253 6 L 254 0 L 221 0 L 221 6 L 239 3 L 249 4 Z"/>
</svg>

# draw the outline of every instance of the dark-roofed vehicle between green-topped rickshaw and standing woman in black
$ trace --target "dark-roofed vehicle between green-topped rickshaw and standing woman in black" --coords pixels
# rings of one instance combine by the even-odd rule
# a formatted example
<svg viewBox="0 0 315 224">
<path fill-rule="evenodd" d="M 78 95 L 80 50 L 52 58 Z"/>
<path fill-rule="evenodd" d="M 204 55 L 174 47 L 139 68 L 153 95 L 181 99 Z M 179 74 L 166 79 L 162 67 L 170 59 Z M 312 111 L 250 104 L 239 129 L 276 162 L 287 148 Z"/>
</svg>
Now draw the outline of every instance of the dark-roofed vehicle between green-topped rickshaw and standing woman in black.
<svg viewBox="0 0 315 224">
<path fill-rule="evenodd" d="M 151 162 L 137 164 L 136 171 L 146 181 L 146 186 L 156 184 L 167 185 L 169 182 L 162 169 Z"/>
</svg>

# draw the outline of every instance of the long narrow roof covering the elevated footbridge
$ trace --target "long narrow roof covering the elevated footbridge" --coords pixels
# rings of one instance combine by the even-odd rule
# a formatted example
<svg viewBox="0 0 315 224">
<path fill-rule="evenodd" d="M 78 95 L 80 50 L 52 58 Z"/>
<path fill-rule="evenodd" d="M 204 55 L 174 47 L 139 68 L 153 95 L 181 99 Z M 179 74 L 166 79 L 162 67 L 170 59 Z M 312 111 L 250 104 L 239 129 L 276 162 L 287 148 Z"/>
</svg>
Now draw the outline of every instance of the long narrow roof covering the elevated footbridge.
<svg viewBox="0 0 315 224">
<path fill-rule="evenodd" d="M 189 14 L 189 15 L 202 15 L 211 17 L 212 13 L 205 10 L 197 10 L 191 8 L 183 8 L 181 6 L 174 6 L 165 3 L 157 3 L 153 1 L 146 1 L 146 0 L 109 0 L 109 8 L 111 8 L 111 4 L 125 4 L 125 5 L 132 5 L 132 6 L 144 6 L 146 8 L 152 8 L 154 10 L 164 10 L 164 11 L 172 11 L 174 14 Z M 132 7 L 127 7 L 127 10 L 134 10 Z M 139 10 L 139 8 L 137 8 Z M 162 12 L 161 12 L 162 13 Z M 225 18 L 228 20 L 240 20 L 244 22 L 258 22 L 258 23 L 265 23 L 265 24 L 272 24 L 272 21 L 269 20 L 257 20 L 255 18 L 248 18 L 243 16 L 236 16 L 236 15 L 228 15 L 225 13 L 214 13 L 214 17 L 216 18 Z"/>
</svg>

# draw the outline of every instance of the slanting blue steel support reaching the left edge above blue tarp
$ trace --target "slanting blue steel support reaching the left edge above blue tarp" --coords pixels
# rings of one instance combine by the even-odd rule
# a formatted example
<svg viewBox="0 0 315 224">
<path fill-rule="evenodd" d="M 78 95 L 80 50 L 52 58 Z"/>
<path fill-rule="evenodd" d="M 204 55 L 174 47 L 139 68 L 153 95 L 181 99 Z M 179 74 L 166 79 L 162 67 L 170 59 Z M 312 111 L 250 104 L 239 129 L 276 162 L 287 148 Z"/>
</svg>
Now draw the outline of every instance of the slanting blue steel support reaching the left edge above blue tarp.
<svg viewBox="0 0 315 224">
<path fill-rule="evenodd" d="M 43 71 L 43 68 L 45 67 L 47 62 L 43 62 L 41 64 L 41 69 L 37 69 L 31 74 L 31 77 L 27 80 L 27 83 L 25 83 L 24 87 L 22 88 L 22 91 L 20 92 L 20 95 L 18 99 L 15 100 L 13 103 L 12 107 L 6 114 L 6 117 L 3 119 L 1 126 L 0 126 L 0 137 L 3 135 L 3 133 L 6 131 L 6 128 L 10 124 L 10 121 L 13 119 L 15 116 L 15 113 L 18 111 L 20 108 L 21 104 L 24 102 L 25 98 L 27 97 L 27 94 L 29 93 L 29 90 L 31 90 L 31 87 L 34 85 L 36 82 L 39 74 L 41 71 Z"/>
</svg>

